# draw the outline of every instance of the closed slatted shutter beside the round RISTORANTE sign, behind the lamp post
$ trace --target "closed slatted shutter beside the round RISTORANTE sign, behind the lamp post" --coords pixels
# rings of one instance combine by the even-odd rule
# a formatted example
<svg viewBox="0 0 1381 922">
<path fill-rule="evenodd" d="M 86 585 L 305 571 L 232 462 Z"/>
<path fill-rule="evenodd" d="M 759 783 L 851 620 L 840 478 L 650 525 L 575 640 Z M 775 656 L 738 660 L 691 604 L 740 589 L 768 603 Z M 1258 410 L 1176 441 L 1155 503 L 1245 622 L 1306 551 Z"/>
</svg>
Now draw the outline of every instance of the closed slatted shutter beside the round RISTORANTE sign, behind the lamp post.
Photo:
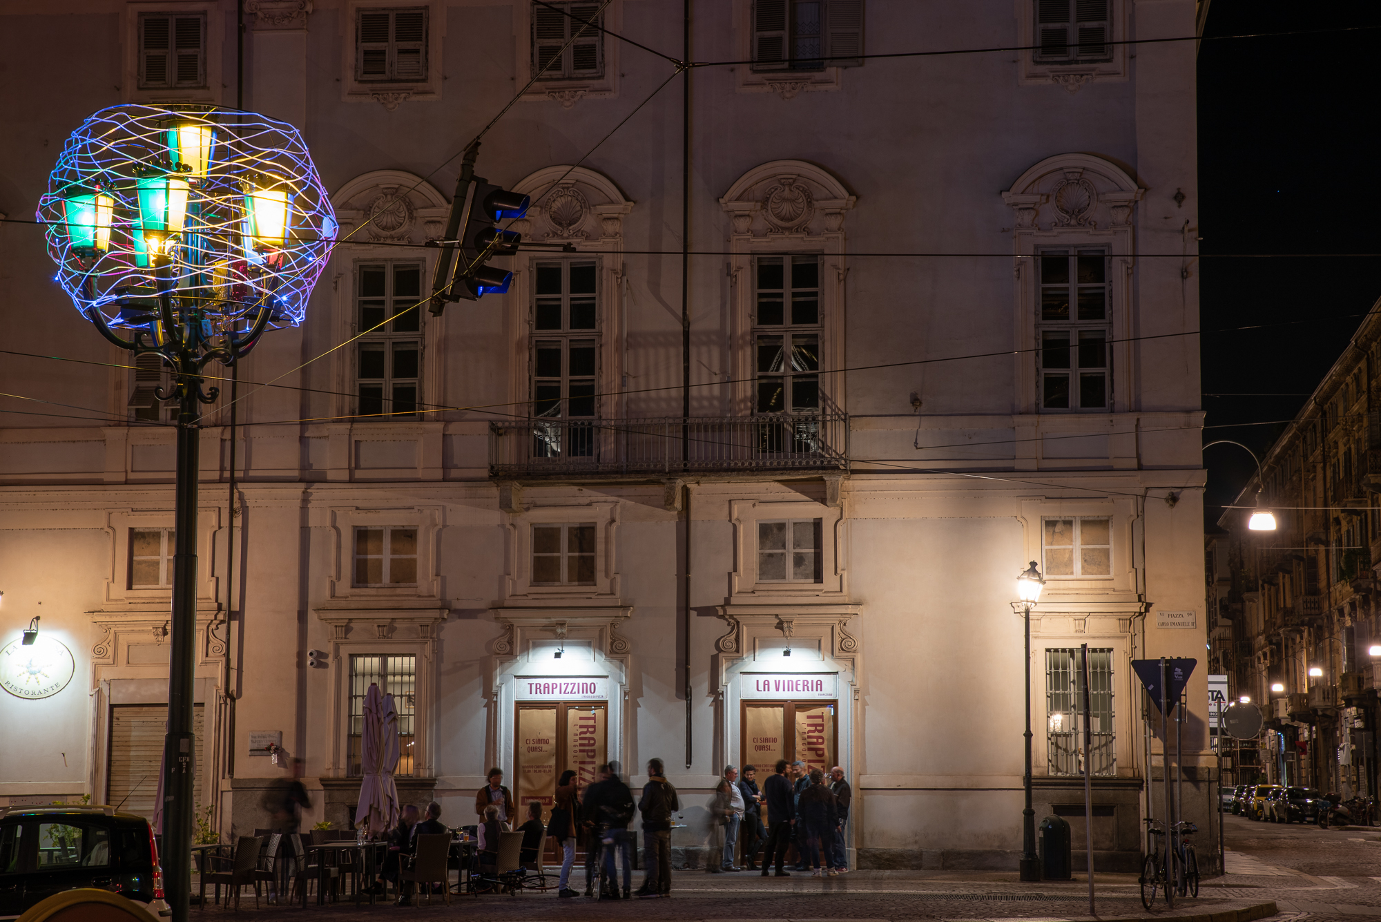
<svg viewBox="0 0 1381 922">
<path fill-rule="evenodd" d="M 204 751 L 204 708 L 192 708 L 192 733 L 196 754 L 192 762 L 193 805 L 206 806 L 202 798 L 202 754 Z M 117 704 L 110 708 L 110 754 L 106 799 L 110 806 L 123 803 L 126 813 L 152 818 L 159 792 L 159 766 L 163 765 L 163 738 L 167 734 L 166 704 Z"/>
</svg>

